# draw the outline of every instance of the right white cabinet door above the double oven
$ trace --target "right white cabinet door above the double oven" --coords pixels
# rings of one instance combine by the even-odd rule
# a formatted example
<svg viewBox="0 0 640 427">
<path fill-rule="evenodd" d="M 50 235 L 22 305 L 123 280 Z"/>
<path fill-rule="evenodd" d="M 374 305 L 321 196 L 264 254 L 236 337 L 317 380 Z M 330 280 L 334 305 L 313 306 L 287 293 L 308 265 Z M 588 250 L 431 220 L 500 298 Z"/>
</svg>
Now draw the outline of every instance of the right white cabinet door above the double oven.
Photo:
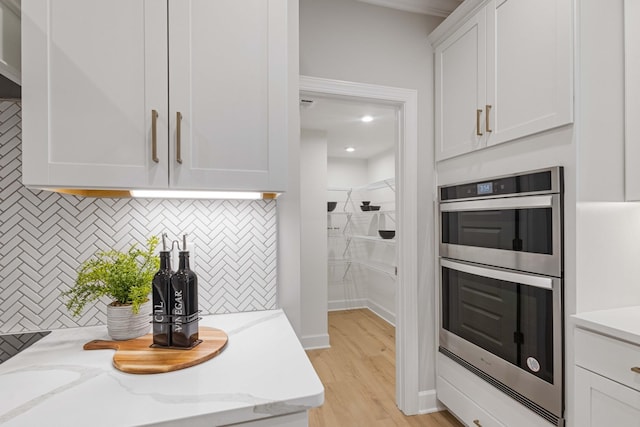
<svg viewBox="0 0 640 427">
<path fill-rule="evenodd" d="M 573 121 L 571 4 L 487 4 L 487 145 Z"/>
</svg>

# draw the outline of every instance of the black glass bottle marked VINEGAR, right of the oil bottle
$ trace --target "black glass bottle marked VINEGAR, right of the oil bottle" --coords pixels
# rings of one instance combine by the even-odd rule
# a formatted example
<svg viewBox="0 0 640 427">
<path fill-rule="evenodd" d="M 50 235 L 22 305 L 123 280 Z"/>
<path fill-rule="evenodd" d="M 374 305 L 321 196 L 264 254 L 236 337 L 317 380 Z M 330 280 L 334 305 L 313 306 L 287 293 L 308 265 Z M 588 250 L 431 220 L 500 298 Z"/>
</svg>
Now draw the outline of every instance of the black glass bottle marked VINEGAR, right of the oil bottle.
<svg viewBox="0 0 640 427">
<path fill-rule="evenodd" d="M 189 348 L 198 340 L 198 276 L 189 269 L 187 236 L 184 235 L 178 271 L 171 276 L 171 345 Z"/>
</svg>

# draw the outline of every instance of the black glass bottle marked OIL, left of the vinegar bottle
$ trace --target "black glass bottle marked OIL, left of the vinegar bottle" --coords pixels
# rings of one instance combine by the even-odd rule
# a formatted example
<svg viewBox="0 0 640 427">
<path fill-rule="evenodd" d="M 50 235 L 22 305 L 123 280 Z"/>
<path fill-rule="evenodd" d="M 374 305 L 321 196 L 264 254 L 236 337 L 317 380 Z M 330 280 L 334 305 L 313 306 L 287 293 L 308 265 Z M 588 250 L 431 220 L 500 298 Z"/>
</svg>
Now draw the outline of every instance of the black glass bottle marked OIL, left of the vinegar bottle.
<svg viewBox="0 0 640 427">
<path fill-rule="evenodd" d="M 166 233 L 162 233 L 160 270 L 153 276 L 153 345 L 171 345 L 171 313 L 169 312 L 169 291 L 171 289 L 171 253 L 167 251 Z"/>
</svg>

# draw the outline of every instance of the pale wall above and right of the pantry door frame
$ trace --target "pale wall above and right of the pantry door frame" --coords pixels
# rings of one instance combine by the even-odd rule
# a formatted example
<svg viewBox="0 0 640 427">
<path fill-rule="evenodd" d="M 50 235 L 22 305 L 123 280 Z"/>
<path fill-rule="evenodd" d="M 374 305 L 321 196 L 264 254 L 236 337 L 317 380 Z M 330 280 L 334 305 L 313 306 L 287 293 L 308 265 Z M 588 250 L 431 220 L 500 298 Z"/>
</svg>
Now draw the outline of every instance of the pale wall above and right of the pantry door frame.
<svg viewBox="0 0 640 427">
<path fill-rule="evenodd" d="M 441 18 L 354 0 L 300 1 L 300 74 L 415 89 L 419 162 L 433 164 L 433 53 L 427 35 Z M 420 389 L 435 388 L 433 170 L 420 168 L 418 260 Z M 311 302 L 310 302 L 311 303 Z"/>
</svg>

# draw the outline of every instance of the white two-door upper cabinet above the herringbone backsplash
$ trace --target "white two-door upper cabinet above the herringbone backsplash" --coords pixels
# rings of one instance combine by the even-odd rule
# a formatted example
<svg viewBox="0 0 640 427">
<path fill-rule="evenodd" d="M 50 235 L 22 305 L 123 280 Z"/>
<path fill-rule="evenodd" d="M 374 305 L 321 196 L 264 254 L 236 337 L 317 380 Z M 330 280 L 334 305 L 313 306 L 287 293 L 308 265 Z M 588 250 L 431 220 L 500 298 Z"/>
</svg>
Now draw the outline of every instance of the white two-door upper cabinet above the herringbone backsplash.
<svg viewBox="0 0 640 427">
<path fill-rule="evenodd" d="M 26 185 L 285 189 L 286 0 L 22 3 Z"/>
</svg>

